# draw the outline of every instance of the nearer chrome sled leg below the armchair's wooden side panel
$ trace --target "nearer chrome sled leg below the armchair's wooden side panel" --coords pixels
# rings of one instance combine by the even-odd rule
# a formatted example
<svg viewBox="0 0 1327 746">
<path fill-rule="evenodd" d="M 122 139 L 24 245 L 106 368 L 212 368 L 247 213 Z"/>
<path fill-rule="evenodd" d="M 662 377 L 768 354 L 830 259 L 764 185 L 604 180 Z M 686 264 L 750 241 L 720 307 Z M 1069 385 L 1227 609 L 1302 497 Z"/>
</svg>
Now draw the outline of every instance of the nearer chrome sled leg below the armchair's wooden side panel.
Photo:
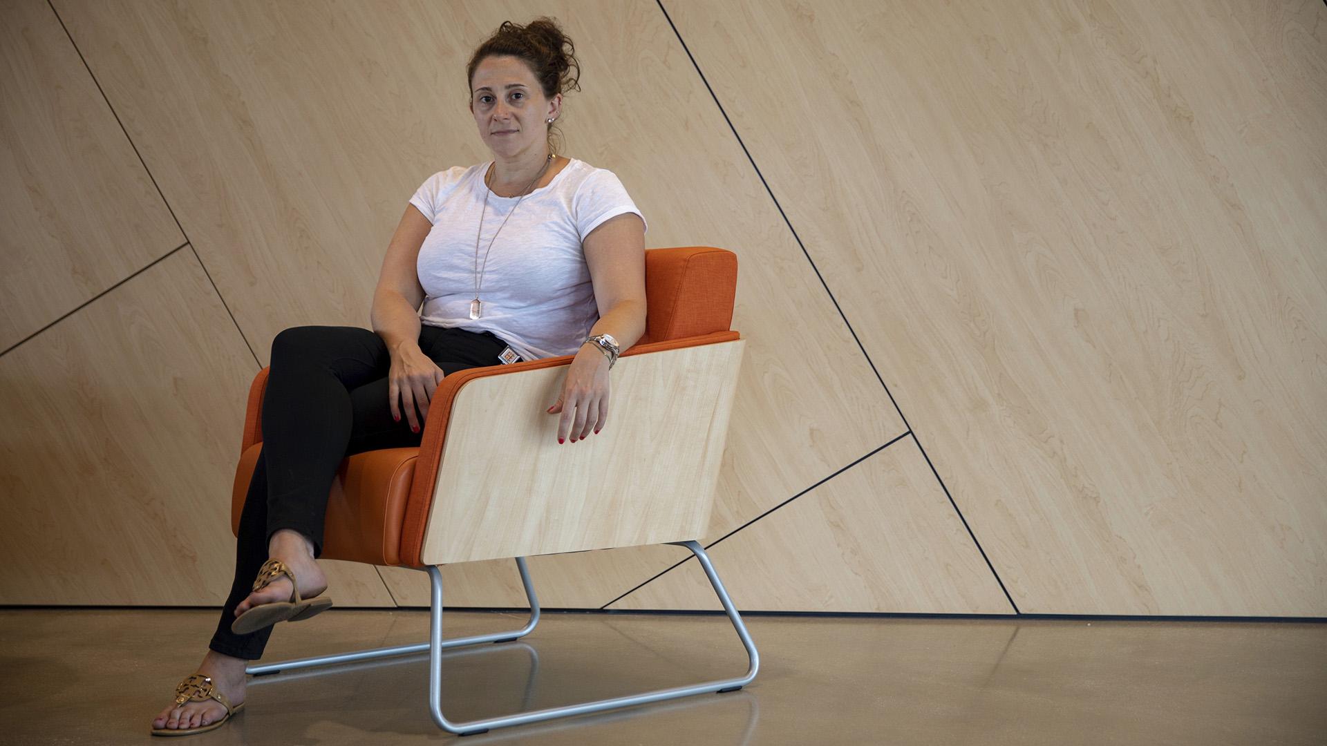
<svg viewBox="0 0 1327 746">
<path fill-rule="evenodd" d="M 709 555 L 701 548 L 697 542 L 669 542 L 670 544 L 677 544 L 679 547 L 686 547 L 691 550 L 695 559 L 701 561 L 701 567 L 705 568 L 705 575 L 710 579 L 710 585 L 714 587 L 714 592 L 718 593 L 719 601 L 723 603 L 723 611 L 727 612 L 729 620 L 733 621 L 733 628 L 736 629 L 738 637 L 742 638 L 742 645 L 746 646 L 747 658 L 750 665 L 747 672 L 740 678 L 727 678 L 721 681 L 707 681 L 705 684 L 695 684 L 691 686 L 674 686 L 671 689 L 658 689 L 654 692 L 646 692 L 644 694 L 632 694 L 629 697 L 614 697 L 610 700 L 596 700 L 593 702 L 583 702 L 580 705 L 567 705 L 563 708 L 548 708 L 544 710 L 535 710 L 528 713 L 518 713 L 514 715 L 503 715 L 496 718 L 476 719 L 470 722 L 454 723 L 442 714 L 442 649 L 447 642 L 442 638 L 442 572 L 437 567 L 429 568 L 429 577 L 433 581 L 433 603 L 431 603 L 431 617 L 430 617 L 430 634 L 429 634 L 429 711 L 433 714 L 433 722 L 438 727 L 446 730 L 447 733 L 455 733 L 459 735 L 474 735 L 478 733 L 484 733 L 494 727 L 507 727 L 511 725 L 523 725 L 528 722 L 545 721 L 552 718 L 579 715 L 585 713 L 597 713 L 600 710 L 610 710 L 614 708 L 626 708 L 630 705 L 644 705 L 648 702 L 660 702 L 664 700 L 675 700 L 678 697 L 689 697 L 691 694 L 705 694 L 710 692 L 733 692 L 740 689 L 755 678 L 756 670 L 760 668 L 760 656 L 756 653 L 755 642 L 751 641 L 751 636 L 747 633 L 746 625 L 742 624 L 742 617 L 738 615 L 736 608 L 733 605 L 733 600 L 729 599 L 727 591 L 723 589 L 723 583 L 719 581 L 718 573 L 714 572 L 714 565 L 710 564 Z M 524 575 L 525 565 L 522 563 L 522 577 Z M 527 581 L 527 593 L 529 593 L 531 603 L 535 603 L 533 591 Z M 533 607 L 537 609 L 537 607 Z"/>
</svg>

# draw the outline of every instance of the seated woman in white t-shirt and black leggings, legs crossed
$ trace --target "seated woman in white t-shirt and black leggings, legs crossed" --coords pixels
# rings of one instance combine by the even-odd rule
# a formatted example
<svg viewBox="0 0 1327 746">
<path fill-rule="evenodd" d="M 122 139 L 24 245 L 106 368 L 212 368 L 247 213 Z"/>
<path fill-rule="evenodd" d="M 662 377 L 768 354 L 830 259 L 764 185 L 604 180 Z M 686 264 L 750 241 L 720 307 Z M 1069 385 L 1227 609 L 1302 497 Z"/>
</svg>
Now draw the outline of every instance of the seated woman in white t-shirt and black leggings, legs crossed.
<svg viewBox="0 0 1327 746">
<path fill-rule="evenodd" d="M 504 23 L 467 68 L 492 162 L 439 171 L 410 199 L 382 261 L 373 331 L 299 327 L 272 341 L 235 584 L 198 673 L 154 734 L 219 727 L 243 704 L 244 668 L 271 625 L 329 605 L 317 599 L 326 577 L 316 558 L 337 466 L 418 446 L 443 376 L 575 354 L 547 410 L 559 415 L 557 443 L 604 427 L 609 368 L 645 333 L 645 220 L 610 171 L 552 150 L 579 73 L 553 21 Z"/>
</svg>

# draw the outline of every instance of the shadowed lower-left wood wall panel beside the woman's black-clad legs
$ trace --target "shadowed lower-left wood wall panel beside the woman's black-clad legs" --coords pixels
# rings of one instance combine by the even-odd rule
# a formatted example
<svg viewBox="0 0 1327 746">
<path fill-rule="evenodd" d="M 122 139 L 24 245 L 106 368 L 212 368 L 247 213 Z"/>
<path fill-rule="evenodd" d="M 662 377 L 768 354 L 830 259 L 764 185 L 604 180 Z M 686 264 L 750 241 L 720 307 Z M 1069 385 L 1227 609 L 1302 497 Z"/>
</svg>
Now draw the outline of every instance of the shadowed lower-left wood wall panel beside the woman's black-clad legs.
<svg viewBox="0 0 1327 746">
<path fill-rule="evenodd" d="M 0 604 L 220 605 L 256 365 L 184 247 L 0 358 Z M 325 563 L 341 605 L 391 605 Z"/>
</svg>

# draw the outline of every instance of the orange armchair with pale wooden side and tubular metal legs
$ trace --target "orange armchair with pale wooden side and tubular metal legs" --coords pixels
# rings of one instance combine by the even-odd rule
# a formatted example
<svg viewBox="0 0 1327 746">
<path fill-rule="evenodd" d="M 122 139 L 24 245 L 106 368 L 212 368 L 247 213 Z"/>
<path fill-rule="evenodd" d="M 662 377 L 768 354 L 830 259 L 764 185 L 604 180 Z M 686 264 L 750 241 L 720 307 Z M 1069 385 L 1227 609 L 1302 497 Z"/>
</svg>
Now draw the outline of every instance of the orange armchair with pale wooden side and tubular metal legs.
<svg viewBox="0 0 1327 746">
<path fill-rule="evenodd" d="M 736 256 L 722 248 L 657 248 L 645 254 L 646 325 L 613 369 L 614 425 L 575 447 L 557 447 L 556 398 L 572 356 L 471 368 L 434 392 L 419 447 L 345 458 L 328 496 L 322 556 L 429 573 L 430 641 L 249 666 L 251 674 L 430 652 L 434 722 L 468 735 L 504 727 L 671 700 L 731 692 L 755 678 L 759 656 L 697 539 L 709 524 L 746 340 L 729 327 Z M 239 516 L 263 447 L 264 368 L 249 386 L 240 462 L 231 502 Z M 453 723 L 441 708 L 441 652 L 516 640 L 539 623 L 525 567 L 531 555 L 670 543 L 697 555 L 746 646 L 738 678 L 648 692 L 564 708 Z M 515 558 L 531 616 L 512 632 L 442 638 L 439 564 Z"/>
</svg>

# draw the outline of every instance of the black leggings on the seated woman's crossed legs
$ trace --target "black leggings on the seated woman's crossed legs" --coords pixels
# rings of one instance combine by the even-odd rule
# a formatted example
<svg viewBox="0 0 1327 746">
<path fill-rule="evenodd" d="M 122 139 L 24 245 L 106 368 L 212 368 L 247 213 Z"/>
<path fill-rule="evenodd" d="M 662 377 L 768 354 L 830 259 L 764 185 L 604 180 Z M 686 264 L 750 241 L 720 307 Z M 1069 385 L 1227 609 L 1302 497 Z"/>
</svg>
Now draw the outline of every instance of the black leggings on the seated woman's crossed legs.
<svg viewBox="0 0 1327 746">
<path fill-rule="evenodd" d="M 419 349 L 443 373 L 498 365 L 507 346 L 491 332 L 421 325 Z M 341 461 L 377 449 L 418 446 L 405 406 L 391 418 L 386 342 L 357 327 L 293 327 L 272 340 L 271 370 L 263 397 L 263 450 L 253 467 L 235 550 L 235 581 L 208 646 L 218 653 L 253 660 L 272 633 L 265 627 L 235 634 L 235 607 L 251 592 L 267 561 L 272 534 L 293 528 L 322 554 L 322 520 L 328 494 Z"/>
</svg>

